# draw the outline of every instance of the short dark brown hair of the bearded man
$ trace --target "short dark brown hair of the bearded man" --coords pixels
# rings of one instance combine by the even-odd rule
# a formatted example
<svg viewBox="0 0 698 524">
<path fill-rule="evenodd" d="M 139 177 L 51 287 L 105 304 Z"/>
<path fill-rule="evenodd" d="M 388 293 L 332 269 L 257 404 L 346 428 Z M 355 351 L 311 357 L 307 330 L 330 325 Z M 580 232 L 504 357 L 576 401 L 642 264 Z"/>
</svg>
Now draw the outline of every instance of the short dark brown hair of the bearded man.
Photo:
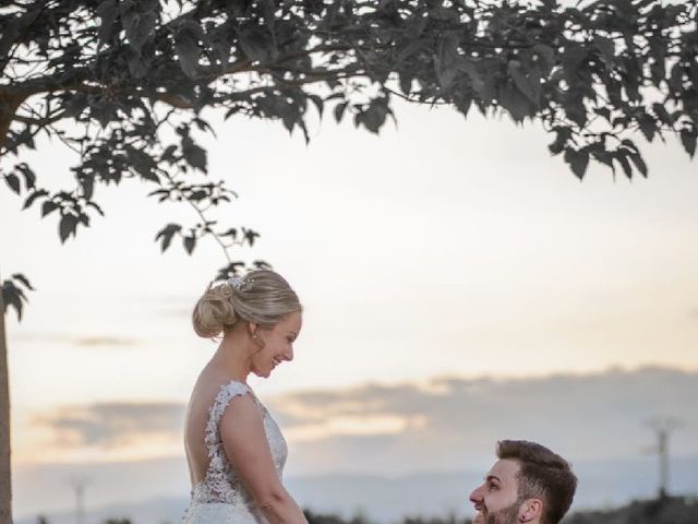
<svg viewBox="0 0 698 524">
<path fill-rule="evenodd" d="M 519 500 L 542 499 L 541 524 L 557 524 L 569 510 L 577 489 L 569 463 L 544 445 L 526 440 L 501 440 L 496 453 L 498 458 L 520 465 Z"/>
</svg>

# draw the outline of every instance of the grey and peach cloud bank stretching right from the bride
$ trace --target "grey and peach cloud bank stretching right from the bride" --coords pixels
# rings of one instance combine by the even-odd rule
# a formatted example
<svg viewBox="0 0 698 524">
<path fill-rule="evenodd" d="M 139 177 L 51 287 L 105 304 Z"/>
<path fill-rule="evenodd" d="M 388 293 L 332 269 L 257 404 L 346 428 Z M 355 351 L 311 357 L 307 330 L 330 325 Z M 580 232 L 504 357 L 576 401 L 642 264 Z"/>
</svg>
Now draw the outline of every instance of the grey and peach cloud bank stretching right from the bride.
<svg viewBox="0 0 698 524">
<path fill-rule="evenodd" d="M 401 473 L 484 463 L 504 438 L 539 441 L 574 460 L 638 456 L 655 443 L 647 422 L 658 416 L 682 421 L 672 451 L 695 454 L 696 398 L 698 372 L 645 368 L 366 384 L 279 396 L 269 406 L 303 471 Z"/>
</svg>

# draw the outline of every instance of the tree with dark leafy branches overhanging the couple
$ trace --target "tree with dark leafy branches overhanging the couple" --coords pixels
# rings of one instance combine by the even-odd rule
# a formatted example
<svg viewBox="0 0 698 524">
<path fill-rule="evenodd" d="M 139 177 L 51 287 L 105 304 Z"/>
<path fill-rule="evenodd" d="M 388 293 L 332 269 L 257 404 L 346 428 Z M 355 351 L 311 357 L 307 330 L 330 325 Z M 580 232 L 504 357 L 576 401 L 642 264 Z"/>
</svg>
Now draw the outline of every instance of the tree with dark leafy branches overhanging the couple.
<svg viewBox="0 0 698 524">
<path fill-rule="evenodd" d="M 590 160 L 647 176 L 634 138 L 675 135 L 696 151 L 697 21 L 696 0 L 5 2 L 0 169 L 24 209 L 58 217 L 61 241 L 103 214 L 99 186 L 146 180 L 154 198 L 197 213 L 157 235 L 163 250 L 178 237 L 190 253 L 207 236 L 224 248 L 256 237 L 206 217 L 234 195 L 225 182 L 192 181 L 206 172 L 196 136 L 212 132 L 212 109 L 278 120 L 308 140 L 313 108 L 378 132 L 395 98 L 466 117 L 474 106 L 540 122 L 580 179 Z M 69 189 L 48 190 L 19 162 L 38 134 L 75 152 Z"/>
</svg>

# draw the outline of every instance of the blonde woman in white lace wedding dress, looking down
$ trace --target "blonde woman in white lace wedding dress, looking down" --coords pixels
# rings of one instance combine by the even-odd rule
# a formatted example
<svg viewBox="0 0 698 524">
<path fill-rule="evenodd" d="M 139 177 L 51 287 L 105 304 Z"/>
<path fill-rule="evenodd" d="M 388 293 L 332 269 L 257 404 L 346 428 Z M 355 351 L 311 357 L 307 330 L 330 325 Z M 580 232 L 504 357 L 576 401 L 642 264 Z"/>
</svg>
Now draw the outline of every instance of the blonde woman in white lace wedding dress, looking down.
<svg viewBox="0 0 698 524">
<path fill-rule="evenodd" d="M 194 331 L 222 340 L 186 408 L 192 495 L 183 524 L 306 524 L 281 484 L 286 441 L 246 383 L 293 358 L 301 309 L 267 270 L 210 286 L 194 307 Z"/>
</svg>

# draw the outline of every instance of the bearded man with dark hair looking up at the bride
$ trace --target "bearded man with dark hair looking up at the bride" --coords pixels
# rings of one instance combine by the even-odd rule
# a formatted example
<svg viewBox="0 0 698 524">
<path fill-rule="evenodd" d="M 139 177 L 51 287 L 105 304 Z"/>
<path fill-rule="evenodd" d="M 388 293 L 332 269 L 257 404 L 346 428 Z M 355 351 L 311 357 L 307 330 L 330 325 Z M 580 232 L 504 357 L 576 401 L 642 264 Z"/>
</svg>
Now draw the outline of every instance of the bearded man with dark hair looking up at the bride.
<svg viewBox="0 0 698 524">
<path fill-rule="evenodd" d="M 577 488 L 562 456 L 525 440 L 497 442 L 498 461 L 482 486 L 470 493 L 473 524 L 557 524 Z"/>
</svg>

